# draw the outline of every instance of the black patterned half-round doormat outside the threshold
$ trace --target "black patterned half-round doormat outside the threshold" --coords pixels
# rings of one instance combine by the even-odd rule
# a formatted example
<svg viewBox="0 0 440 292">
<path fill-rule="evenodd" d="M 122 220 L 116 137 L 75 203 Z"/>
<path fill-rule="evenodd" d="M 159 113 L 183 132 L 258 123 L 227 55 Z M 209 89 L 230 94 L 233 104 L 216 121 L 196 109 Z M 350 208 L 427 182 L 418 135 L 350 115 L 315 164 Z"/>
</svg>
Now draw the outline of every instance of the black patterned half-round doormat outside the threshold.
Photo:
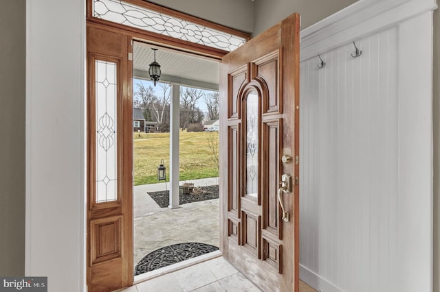
<svg viewBox="0 0 440 292">
<path fill-rule="evenodd" d="M 215 252 L 219 247 L 206 243 L 177 243 L 150 252 L 135 267 L 135 276 L 179 263 L 208 252 Z"/>
</svg>

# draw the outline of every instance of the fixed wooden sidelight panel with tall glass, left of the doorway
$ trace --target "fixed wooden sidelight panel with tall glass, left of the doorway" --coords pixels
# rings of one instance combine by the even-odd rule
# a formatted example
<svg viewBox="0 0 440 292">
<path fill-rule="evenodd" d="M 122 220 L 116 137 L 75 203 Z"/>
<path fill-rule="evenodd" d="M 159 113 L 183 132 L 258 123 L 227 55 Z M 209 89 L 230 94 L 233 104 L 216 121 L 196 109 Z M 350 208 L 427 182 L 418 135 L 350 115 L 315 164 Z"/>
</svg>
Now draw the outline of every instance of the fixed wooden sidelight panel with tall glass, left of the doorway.
<svg viewBox="0 0 440 292">
<path fill-rule="evenodd" d="M 131 38 L 87 25 L 87 286 L 133 284 Z"/>
</svg>

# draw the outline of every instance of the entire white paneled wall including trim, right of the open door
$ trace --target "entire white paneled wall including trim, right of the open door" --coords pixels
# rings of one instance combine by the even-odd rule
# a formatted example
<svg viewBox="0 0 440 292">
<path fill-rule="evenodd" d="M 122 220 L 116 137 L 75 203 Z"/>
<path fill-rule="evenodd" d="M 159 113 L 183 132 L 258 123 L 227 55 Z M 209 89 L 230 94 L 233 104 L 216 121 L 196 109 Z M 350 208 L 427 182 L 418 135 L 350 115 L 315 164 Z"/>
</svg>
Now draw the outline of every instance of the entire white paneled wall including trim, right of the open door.
<svg viewBox="0 0 440 292">
<path fill-rule="evenodd" d="M 432 8 L 302 32 L 300 265 L 316 289 L 432 291 Z"/>
</svg>

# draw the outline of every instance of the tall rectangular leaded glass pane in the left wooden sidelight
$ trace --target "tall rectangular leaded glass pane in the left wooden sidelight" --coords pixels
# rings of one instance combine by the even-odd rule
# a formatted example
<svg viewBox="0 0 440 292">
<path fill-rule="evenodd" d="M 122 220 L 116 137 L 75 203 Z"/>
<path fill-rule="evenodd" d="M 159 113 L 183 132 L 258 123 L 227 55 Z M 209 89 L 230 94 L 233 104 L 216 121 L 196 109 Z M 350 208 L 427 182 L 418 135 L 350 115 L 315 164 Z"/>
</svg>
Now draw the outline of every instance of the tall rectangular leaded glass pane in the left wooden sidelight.
<svg viewBox="0 0 440 292">
<path fill-rule="evenodd" d="M 111 202 L 118 194 L 117 64 L 96 60 L 96 202 Z"/>
</svg>

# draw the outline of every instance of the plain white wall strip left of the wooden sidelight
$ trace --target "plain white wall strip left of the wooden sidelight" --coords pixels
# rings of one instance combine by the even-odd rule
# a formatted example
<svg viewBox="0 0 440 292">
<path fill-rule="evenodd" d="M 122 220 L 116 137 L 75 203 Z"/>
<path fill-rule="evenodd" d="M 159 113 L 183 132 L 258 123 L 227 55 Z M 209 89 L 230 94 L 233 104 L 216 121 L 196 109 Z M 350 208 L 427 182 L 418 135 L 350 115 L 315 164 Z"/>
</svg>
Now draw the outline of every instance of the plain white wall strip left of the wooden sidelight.
<svg viewBox="0 0 440 292">
<path fill-rule="evenodd" d="M 85 283 L 85 1 L 26 1 L 27 276 Z"/>
</svg>

